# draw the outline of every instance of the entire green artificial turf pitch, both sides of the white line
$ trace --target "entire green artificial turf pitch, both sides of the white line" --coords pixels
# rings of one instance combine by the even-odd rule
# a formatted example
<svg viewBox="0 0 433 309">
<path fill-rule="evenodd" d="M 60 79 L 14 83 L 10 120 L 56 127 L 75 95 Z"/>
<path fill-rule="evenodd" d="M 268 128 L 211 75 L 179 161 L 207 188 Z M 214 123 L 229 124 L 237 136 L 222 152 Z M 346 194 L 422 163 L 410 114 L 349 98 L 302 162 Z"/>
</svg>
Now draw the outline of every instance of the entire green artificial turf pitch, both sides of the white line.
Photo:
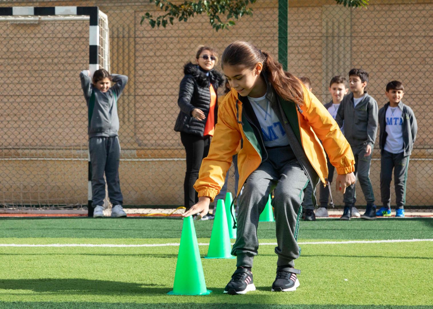
<svg viewBox="0 0 433 309">
<path fill-rule="evenodd" d="M 431 220 L 302 221 L 299 241 L 431 239 Z M 0 243 L 178 243 L 181 223 L 2 219 Z M 198 241 L 208 243 L 213 222 L 194 224 Z M 259 224 L 259 242 L 275 242 L 274 223 Z M 0 247 L 0 308 L 433 308 L 431 241 L 301 245 L 296 261 L 301 286 L 291 293 L 270 292 L 274 247 L 259 247 L 253 268 L 257 291 L 244 296 L 222 293 L 236 260 L 207 259 L 201 261 L 213 293 L 166 295 L 173 286 L 177 246 Z M 206 255 L 208 247 L 199 248 Z"/>
</svg>

